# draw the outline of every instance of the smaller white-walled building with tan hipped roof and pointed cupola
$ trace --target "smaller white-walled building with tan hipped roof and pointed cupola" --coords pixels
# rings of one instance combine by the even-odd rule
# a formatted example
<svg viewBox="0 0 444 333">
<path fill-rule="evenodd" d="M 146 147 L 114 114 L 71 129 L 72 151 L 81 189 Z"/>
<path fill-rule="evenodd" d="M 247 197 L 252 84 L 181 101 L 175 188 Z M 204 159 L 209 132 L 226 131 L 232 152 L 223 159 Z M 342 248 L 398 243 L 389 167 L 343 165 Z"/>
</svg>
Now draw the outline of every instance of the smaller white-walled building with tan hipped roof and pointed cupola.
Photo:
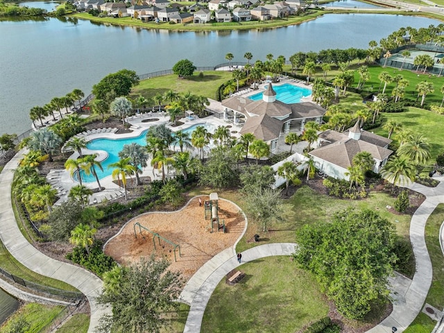
<svg viewBox="0 0 444 333">
<path fill-rule="evenodd" d="M 343 133 L 325 130 L 319 135 L 320 146 L 309 152 L 316 168 L 333 178 L 349 180 L 348 168 L 352 166 L 353 157 L 362 151 L 370 153 L 375 160 L 373 171 L 379 173 L 393 153 L 388 149 L 391 139 L 370 133 L 355 126 Z"/>
</svg>

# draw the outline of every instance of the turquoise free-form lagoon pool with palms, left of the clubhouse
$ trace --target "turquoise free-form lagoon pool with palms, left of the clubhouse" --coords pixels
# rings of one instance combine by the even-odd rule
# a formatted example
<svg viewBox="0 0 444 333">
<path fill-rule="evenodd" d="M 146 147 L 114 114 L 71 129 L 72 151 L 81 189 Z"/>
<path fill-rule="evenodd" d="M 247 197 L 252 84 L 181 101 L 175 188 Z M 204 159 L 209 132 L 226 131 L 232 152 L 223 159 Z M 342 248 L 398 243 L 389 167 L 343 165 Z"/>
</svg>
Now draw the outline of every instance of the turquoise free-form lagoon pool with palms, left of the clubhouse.
<svg viewBox="0 0 444 333">
<path fill-rule="evenodd" d="M 198 123 L 196 125 L 190 126 L 189 128 L 185 128 L 185 130 L 182 130 L 182 132 L 191 133 L 196 130 L 197 126 L 203 126 L 205 127 L 210 133 L 214 133 L 214 130 L 216 129 L 215 126 L 213 126 L 210 123 Z M 146 133 L 148 133 L 148 130 L 144 130 L 138 137 L 127 137 L 125 139 L 94 139 L 87 143 L 87 148 L 91 150 L 99 150 L 99 151 L 106 151 L 108 153 L 108 157 L 106 160 L 103 160 L 101 162 L 103 171 L 100 171 L 98 168 L 96 168 L 97 176 L 99 179 L 105 178 L 107 176 L 110 176 L 112 173 L 112 169 L 108 169 L 108 165 L 117 162 L 119 159 L 119 152 L 123 149 L 123 146 L 125 144 L 132 144 L 135 142 L 136 144 L 140 144 L 141 146 L 146 146 Z M 91 175 L 86 175 L 83 171 L 80 171 L 82 182 L 95 182 L 96 178 Z M 74 175 L 74 179 L 78 180 L 78 175 Z"/>
</svg>

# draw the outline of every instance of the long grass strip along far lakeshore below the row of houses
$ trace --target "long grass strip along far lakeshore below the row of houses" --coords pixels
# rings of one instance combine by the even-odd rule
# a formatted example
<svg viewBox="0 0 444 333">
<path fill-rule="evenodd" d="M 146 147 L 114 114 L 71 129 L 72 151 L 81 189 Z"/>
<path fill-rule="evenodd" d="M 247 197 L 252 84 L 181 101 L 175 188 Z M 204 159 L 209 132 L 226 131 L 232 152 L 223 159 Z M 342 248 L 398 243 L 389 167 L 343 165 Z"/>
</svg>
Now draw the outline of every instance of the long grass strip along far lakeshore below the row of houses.
<svg viewBox="0 0 444 333">
<path fill-rule="evenodd" d="M 216 30 L 244 30 L 253 28 L 275 28 L 279 26 L 290 26 L 292 24 L 300 24 L 310 19 L 315 19 L 318 16 L 326 14 L 327 11 L 311 10 L 309 14 L 303 16 L 288 17 L 285 19 L 273 19 L 270 21 L 250 21 L 250 22 L 229 22 L 229 23 L 213 23 L 213 24 L 169 24 L 167 22 L 142 22 L 139 19 L 133 19 L 131 17 L 94 17 L 85 13 L 76 13 L 70 15 L 71 17 L 77 17 L 78 19 L 88 19 L 94 22 L 103 22 L 104 24 L 115 24 L 121 26 L 135 26 L 138 28 L 147 29 L 165 29 L 171 31 L 216 31 Z"/>
</svg>

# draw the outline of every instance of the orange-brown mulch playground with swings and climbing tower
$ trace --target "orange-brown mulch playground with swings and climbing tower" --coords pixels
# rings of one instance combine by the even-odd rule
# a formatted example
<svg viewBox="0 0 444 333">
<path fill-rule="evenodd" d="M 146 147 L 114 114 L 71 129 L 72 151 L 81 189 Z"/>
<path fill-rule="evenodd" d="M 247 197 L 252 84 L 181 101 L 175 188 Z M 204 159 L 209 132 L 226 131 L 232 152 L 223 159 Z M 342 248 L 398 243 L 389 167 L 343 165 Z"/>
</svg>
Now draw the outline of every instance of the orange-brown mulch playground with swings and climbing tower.
<svg viewBox="0 0 444 333">
<path fill-rule="evenodd" d="M 180 271 L 188 280 L 244 232 L 246 221 L 239 207 L 217 194 L 211 196 L 214 200 L 210 196 L 192 198 L 176 212 L 146 213 L 131 219 L 108 241 L 105 254 L 126 265 L 154 253 L 169 259 L 171 270 Z"/>
</svg>

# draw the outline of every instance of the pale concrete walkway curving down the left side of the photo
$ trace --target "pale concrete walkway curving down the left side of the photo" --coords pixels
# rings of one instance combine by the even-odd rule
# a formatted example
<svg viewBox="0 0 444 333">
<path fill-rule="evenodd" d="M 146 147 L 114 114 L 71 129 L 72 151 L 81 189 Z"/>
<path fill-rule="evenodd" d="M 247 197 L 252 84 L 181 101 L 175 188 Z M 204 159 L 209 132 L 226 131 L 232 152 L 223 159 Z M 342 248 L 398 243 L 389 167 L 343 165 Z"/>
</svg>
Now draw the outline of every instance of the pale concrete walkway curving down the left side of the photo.
<svg viewBox="0 0 444 333">
<path fill-rule="evenodd" d="M 40 253 L 28 243 L 15 221 L 11 203 L 11 184 L 14 169 L 17 168 L 21 158 L 22 151 L 12 157 L 0 173 L 0 239 L 11 255 L 27 268 L 71 284 L 87 297 L 91 309 L 88 332 L 92 333 L 99 323 L 99 318 L 105 313 L 110 313 L 110 309 L 99 307 L 95 302 L 96 296 L 102 289 L 102 281 L 83 268 L 59 262 Z"/>
</svg>

